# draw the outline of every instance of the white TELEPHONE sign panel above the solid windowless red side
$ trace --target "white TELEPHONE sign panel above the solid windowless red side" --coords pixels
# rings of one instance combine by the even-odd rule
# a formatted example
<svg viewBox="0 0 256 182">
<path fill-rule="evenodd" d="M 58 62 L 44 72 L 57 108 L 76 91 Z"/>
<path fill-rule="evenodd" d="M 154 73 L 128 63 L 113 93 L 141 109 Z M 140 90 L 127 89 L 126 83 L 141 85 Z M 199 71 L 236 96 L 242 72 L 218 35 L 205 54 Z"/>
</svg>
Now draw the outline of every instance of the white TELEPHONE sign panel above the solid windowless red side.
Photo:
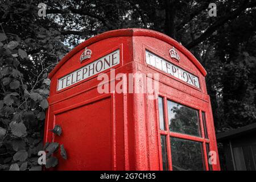
<svg viewBox="0 0 256 182">
<path fill-rule="evenodd" d="M 77 69 L 76 71 L 59 78 L 57 90 L 61 90 L 76 84 L 86 78 L 89 78 L 97 73 L 105 71 L 106 69 L 112 68 L 120 63 L 119 49 L 109 53 L 106 56 L 101 57 L 92 63 L 86 64 L 84 67 Z"/>
</svg>

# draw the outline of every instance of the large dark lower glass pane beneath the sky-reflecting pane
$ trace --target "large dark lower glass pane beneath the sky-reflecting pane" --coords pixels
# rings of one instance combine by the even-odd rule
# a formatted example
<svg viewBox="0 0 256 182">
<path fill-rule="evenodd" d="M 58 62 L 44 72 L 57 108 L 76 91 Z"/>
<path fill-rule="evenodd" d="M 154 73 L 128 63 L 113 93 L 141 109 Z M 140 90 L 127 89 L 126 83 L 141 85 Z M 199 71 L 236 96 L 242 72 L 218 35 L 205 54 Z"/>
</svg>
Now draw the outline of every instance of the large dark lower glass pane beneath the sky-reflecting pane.
<svg viewBox="0 0 256 182">
<path fill-rule="evenodd" d="M 174 171 L 204 170 L 202 143 L 172 137 L 171 153 Z"/>
</svg>

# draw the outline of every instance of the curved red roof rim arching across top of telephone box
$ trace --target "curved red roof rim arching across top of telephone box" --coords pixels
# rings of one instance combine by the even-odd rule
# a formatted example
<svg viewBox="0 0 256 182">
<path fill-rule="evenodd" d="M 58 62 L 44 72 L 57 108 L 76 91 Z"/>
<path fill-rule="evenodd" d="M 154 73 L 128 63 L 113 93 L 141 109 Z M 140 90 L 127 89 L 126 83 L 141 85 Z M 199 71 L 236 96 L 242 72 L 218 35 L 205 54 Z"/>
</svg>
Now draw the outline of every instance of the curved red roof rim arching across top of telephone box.
<svg viewBox="0 0 256 182">
<path fill-rule="evenodd" d="M 93 36 L 92 38 L 85 40 L 85 42 L 82 42 L 81 44 L 79 44 L 79 46 L 76 46 L 75 48 L 72 49 L 72 51 L 70 51 L 67 55 L 65 55 L 63 59 L 61 59 L 59 64 L 57 64 L 56 67 L 51 71 L 51 73 L 49 73 L 48 77 L 51 78 L 53 75 L 55 75 L 55 73 L 59 70 L 59 68 L 66 61 L 68 61 L 73 55 L 79 52 L 81 49 L 88 47 L 90 44 L 96 43 L 100 40 L 118 37 L 118 36 L 148 36 L 151 38 L 162 40 L 163 42 L 171 44 L 180 52 L 182 52 L 185 56 L 187 56 L 188 59 L 191 60 L 193 64 L 195 64 L 195 66 L 199 69 L 199 71 L 203 74 L 203 76 L 207 75 L 207 72 L 205 71 L 204 67 L 200 64 L 200 62 L 196 59 L 196 57 L 193 56 L 192 53 L 188 51 L 188 49 L 186 49 L 176 40 L 170 38 L 167 35 L 164 35 L 160 32 L 153 31 L 153 30 L 147 30 L 142 28 L 126 28 L 126 29 L 119 29 L 119 30 L 104 32 L 100 35 Z"/>
</svg>

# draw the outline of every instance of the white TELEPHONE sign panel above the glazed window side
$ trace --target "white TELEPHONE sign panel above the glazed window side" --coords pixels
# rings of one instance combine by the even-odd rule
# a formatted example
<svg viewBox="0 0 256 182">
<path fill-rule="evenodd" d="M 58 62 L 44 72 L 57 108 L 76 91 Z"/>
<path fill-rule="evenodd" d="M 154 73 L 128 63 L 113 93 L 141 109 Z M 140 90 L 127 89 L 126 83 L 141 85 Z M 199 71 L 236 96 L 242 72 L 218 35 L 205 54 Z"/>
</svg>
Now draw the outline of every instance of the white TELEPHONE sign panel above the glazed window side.
<svg viewBox="0 0 256 182">
<path fill-rule="evenodd" d="M 162 70 L 163 72 L 169 73 L 180 80 L 187 82 L 190 85 L 200 88 L 199 78 L 192 73 L 185 71 L 184 69 L 177 67 L 176 65 L 170 63 L 155 55 L 154 53 L 146 50 L 146 62 L 155 68 Z"/>
</svg>

